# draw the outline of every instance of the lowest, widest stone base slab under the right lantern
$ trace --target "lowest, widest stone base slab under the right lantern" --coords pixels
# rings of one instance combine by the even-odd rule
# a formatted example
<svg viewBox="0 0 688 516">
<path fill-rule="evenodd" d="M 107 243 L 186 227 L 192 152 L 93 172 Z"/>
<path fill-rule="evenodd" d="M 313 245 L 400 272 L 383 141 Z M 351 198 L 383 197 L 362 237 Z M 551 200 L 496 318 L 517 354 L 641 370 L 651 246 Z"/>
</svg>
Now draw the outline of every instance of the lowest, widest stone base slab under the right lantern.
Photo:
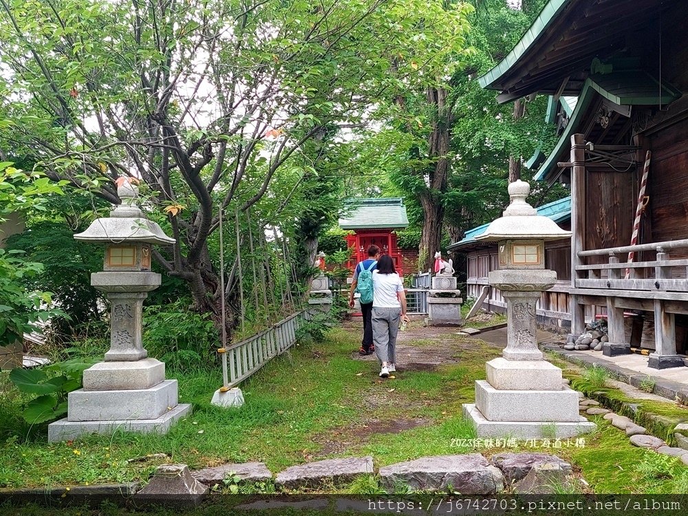
<svg viewBox="0 0 688 516">
<path fill-rule="evenodd" d="M 464 417 L 475 427 L 479 438 L 515 438 L 515 439 L 566 439 L 594 431 L 597 425 L 579 416 L 578 422 L 536 422 L 536 421 L 489 421 L 472 403 L 464 404 Z"/>
</svg>

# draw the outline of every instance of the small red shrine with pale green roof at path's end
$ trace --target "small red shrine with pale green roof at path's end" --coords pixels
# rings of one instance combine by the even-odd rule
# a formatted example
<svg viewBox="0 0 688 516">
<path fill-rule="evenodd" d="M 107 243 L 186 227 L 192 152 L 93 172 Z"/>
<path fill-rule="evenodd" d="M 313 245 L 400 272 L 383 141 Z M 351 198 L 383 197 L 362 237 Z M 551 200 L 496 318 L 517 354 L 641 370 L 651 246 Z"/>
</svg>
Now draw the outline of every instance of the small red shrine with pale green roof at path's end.
<svg viewBox="0 0 688 516">
<path fill-rule="evenodd" d="M 354 233 L 346 241 L 354 252 L 347 268 L 354 270 L 359 261 L 368 257 L 369 246 L 376 245 L 385 255 L 394 260 L 394 268 L 403 274 L 403 257 L 399 250 L 394 230 L 409 225 L 404 200 L 400 198 L 352 200 L 345 215 L 339 219 L 339 227 Z"/>
</svg>

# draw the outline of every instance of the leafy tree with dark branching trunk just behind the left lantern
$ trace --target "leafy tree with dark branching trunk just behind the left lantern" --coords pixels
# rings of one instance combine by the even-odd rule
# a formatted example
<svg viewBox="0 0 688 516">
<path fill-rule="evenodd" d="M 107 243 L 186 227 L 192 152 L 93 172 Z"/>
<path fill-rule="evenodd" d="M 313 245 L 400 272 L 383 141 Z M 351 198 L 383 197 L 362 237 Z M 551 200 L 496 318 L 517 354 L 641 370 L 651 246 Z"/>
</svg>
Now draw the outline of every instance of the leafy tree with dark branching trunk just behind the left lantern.
<svg viewBox="0 0 688 516">
<path fill-rule="evenodd" d="M 232 294 L 210 252 L 219 209 L 261 206 L 259 225 L 293 213 L 284 193 L 308 172 L 294 160 L 319 153 L 307 142 L 436 80 L 466 25 L 465 10 L 438 18 L 438 6 L 0 0 L 0 114 L 14 122 L 0 138 L 109 202 L 115 180 L 140 180 L 177 241 L 155 259 L 217 321 Z"/>
</svg>

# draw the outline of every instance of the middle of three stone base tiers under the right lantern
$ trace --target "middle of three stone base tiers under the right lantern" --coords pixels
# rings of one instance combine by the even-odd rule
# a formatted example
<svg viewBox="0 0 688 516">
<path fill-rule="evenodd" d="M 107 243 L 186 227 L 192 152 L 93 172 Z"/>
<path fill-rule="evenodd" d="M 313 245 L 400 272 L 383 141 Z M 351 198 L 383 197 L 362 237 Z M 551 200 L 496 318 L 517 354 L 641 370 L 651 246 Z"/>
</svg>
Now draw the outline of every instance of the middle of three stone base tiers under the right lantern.
<svg viewBox="0 0 688 516">
<path fill-rule="evenodd" d="M 475 406 L 490 421 L 579 421 L 577 392 L 559 387 L 558 391 L 499 391 L 485 380 L 476 380 Z"/>
</svg>

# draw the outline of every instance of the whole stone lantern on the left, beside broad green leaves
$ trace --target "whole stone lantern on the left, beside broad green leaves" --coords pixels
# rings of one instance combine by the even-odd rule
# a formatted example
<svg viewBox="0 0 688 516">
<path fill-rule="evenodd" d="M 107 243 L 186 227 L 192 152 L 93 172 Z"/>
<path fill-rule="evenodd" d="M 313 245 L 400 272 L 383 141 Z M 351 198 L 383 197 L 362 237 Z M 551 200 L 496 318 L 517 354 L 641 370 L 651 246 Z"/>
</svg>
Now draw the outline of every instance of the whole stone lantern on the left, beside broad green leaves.
<svg viewBox="0 0 688 516">
<path fill-rule="evenodd" d="M 104 362 L 84 371 L 83 389 L 69 393 L 67 418 L 48 427 L 51 442 L 117 428 L 164 433 L 191 410 L 178 404 L 177 380 L 165 379 L 164 363 L 148 358 L 142 343 L 143 301 L 160 286 L 160 275 L 151 272 L 152 246 L 175 240 L 138 208 L 135 185 L 124 182 L 117 194 L 122 204 L 109 217 L 74 235 L 105 244 L 103 272 L 94 272 L 91 284 L 111 304 L 110 349 Z"/>
</svg>

